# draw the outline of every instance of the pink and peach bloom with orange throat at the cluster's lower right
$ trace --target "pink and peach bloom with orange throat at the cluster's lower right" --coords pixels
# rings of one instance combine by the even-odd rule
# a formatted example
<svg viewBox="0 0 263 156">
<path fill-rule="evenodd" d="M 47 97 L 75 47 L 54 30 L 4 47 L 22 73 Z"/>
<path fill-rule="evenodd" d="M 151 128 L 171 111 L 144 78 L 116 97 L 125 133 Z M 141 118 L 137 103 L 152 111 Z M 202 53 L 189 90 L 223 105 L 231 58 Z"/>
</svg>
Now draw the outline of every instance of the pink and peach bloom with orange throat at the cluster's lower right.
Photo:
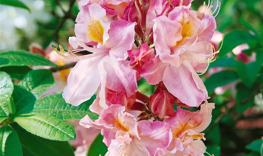
<svg viewBox="0 0 263 156">
<path fill-rule="evenodd" d="M 201 105 L 200 111 L 190 112 L 177 107 L 174 117 L 164 119 L 173 133 L 173 140 L 168 147 L 172 153 L 184 150 L 183 144 L 190 139 L 204 139 L 204 129 L 208 127 L 212 119 L 214 103 Z"/>
</svg>

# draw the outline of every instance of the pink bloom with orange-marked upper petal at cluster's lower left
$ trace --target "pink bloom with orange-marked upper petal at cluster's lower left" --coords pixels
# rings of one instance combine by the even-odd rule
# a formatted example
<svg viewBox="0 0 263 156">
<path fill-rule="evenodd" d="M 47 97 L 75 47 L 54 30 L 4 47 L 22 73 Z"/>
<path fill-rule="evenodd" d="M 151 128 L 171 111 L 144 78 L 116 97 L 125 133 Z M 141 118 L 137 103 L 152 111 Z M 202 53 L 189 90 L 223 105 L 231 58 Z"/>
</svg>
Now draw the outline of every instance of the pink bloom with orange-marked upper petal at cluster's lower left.
<svg viewBox="0 0 263 156">
<path fill-rule="evenodd" d="M 137 122 L 135 116 L 124 111 L 125 106 L 112 105 L 103 110 L 95 121 L 86 115 L 80 120 L 80 125 L 103 129 L 103 142 L 109 146 L 106 155 L 135 156 L 140 153 L 151 156 L 158 147 L 168 147 L 172 139 L 168 124 L 146 120 Z"/>
</svg>

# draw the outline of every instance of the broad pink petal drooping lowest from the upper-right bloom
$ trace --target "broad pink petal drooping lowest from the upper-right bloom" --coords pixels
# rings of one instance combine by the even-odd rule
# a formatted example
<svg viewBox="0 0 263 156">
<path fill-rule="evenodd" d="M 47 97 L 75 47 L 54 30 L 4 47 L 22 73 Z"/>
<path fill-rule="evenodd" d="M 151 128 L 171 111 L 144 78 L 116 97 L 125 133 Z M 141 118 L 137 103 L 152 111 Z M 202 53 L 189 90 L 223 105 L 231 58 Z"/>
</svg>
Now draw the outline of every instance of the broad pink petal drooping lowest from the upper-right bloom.
<svg viewBox="0 0 263 156">
<path fill-rule="evenodd" d="M 168 91 L 184 104 L 198 107 L 205 100 L 207 92 L 203 87 L 199 89 L 199 85 L 204 85 L 202 80 L 194 70 L 190 71 L 191 66 L 185 66 L 184 62 L 178 68 L 168 66 L 163 74 L 163 83 Z"/>
</svg>

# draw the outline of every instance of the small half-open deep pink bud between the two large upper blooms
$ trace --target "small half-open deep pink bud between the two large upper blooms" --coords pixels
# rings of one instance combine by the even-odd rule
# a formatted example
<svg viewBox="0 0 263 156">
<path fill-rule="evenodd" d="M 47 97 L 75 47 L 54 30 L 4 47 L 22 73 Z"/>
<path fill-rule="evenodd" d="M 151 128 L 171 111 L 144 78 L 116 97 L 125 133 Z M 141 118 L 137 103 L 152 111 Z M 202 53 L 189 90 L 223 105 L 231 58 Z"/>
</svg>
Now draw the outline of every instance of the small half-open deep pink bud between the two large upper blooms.
<svg viewBox="0 0 263 156">
<path fill-rule="evenodd" d="M 154 49 L 150 48 L 147 43 L 143 43 L 140 49 L 129 50 L 128 56 L 131 59 L 131 69 L 141 73 L 142 65 L 154 58 Z"/>
</svg>

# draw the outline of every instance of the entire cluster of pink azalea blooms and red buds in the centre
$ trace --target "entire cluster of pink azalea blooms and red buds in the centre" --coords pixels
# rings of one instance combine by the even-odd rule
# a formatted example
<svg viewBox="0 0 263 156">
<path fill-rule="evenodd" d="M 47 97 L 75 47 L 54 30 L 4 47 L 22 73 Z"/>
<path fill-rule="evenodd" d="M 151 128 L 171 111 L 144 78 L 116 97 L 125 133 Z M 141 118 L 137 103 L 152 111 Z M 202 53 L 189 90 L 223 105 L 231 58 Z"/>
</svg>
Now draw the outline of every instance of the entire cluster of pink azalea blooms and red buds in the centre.
<svg viewBox="0 0 263 156">
<path fill-rule="evenodd" d="M 220 2 L 199 12 L 193 0 L 81 0 L 74 50 L 54 48 L 78 61 L 62 93 L 80 105 L 99 88 L 90 110 L 99 115 L 80 120 L 85 128 L 102 129 L 107 156 L 204 155 L 201 139 L 211 122 L 214 103 L 199 77 L 216 59 L 209 42 Z M 77 55 L 89 51 L 91 54 Z M 146 96 L 137 80 L 157 85 Z M 182 107 L 199 107 L 191 112 Z"/>
</svg>

